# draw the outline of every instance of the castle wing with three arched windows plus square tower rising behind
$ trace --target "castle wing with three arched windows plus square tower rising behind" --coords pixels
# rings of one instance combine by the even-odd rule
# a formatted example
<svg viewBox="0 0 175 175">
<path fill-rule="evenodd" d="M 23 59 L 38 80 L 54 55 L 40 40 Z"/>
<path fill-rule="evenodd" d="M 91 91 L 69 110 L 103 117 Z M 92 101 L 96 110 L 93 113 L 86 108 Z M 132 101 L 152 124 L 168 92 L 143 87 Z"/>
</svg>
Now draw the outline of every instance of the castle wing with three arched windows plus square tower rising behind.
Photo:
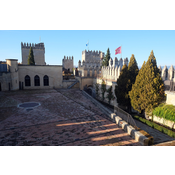
<svg viewBox="0 0 175 175">
<path fill-rule="evenodd" d="M 27 64 L 30 47 L 35 65 Z M 0 91 L 67 87 L 67 82 L 62 81 L 62 65 L 46 65 L 44 43 L 21 43 L 21 52 L 22 64 L 17 59 L 0 64 Z"/>
</svg>

